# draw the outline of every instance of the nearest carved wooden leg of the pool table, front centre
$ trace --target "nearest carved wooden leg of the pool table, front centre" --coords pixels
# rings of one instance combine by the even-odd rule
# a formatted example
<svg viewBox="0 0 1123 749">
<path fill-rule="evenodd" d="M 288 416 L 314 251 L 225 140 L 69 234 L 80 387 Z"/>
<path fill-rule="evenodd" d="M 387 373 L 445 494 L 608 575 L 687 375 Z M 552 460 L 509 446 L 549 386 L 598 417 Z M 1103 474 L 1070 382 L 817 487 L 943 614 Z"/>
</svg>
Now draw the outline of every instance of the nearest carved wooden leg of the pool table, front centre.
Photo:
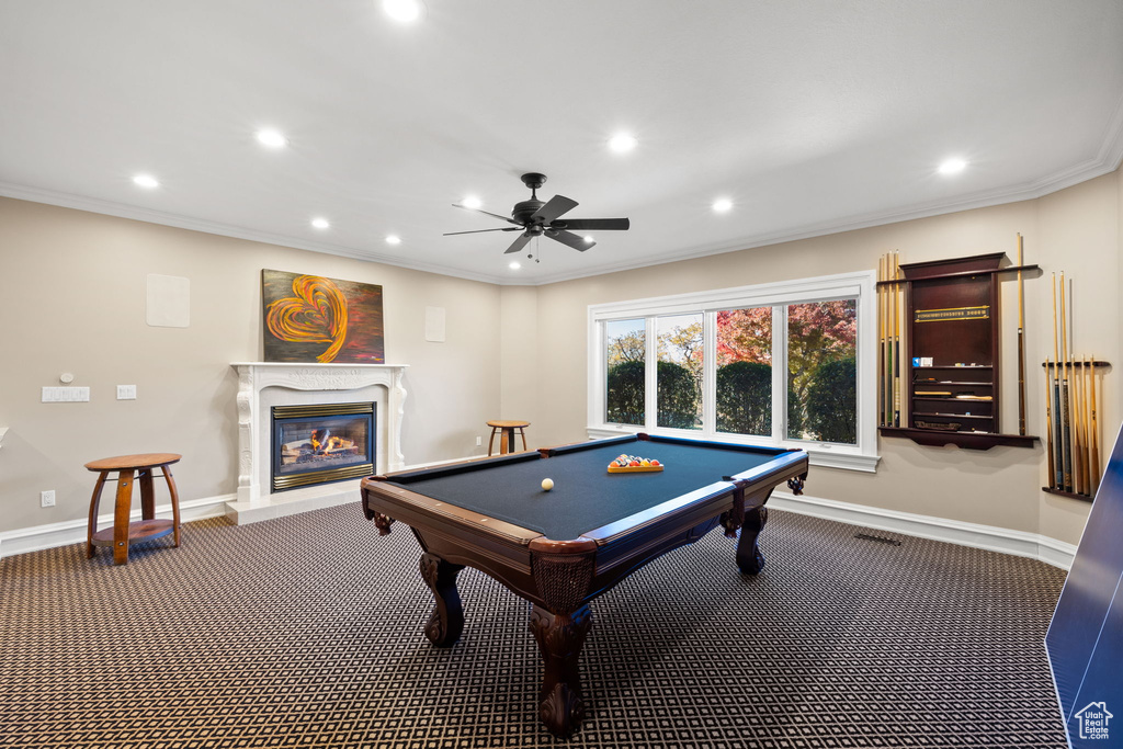
<svg viewBox="0 0 1123 749">
<path fill-rule="evenodd" d="M 592 625 L 588 604 L 569 614 L 554 614 L 538 604 L 530 611 L 530 631 L 546 665 L 538 692 L 538 718 L 559 737 L 573 733 L 585 718 L 577 664 Z"/>
</svg>

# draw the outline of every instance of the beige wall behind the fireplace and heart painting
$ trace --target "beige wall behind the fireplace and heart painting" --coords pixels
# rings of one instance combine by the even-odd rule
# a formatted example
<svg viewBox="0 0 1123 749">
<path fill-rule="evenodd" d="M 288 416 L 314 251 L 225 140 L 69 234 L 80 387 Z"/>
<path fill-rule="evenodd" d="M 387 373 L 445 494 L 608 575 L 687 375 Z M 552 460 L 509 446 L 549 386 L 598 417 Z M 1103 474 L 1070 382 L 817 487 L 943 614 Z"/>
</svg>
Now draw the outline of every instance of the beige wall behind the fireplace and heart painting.
<svg viewBox="0 0 1123 749">
<path fill-rule="evenodd" d="M 261 271 L 383 286 L 386 363 L 408 364 L 408 463 L 478 454 L 500 412 L 500 290 L 318 253 L 0 199 L 0 531 L 84 518 L 82 464 L 130 453 L 183 455 L 181 497 L 237 487 L 237 377 L 262 358 Z M 146 276 L 191 281 L 189 328 L 145 321 Z M 424 308 L 447 311 L 447 342 L 426 342 Z M 40 403 L 63 372 L 89 403 Z M 116 385 L 135 384 L 136 401 Z M 39 508 L 54 488 L 57 505 Z"/>
</svg>

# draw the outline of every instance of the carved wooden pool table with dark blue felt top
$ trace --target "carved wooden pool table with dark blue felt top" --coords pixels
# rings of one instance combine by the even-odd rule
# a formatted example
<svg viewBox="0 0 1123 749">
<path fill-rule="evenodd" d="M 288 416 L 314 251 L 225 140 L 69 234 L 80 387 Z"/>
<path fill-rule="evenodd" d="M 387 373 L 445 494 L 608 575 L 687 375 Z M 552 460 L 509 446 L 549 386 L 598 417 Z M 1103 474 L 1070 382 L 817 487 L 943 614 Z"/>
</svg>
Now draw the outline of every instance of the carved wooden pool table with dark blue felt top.
<svg viewBox="0 0 1123 749">
<path fill-rule="evenodd" d="M 621 454 L 665 468 L 609 473 Z M 765 502 L 785 481 L 798 494 L 806 475 L 803 450 L 641 433 L 371 476 L 362 482 L 363 511 L 381 535 L 396 520 L 420 542 L 421 576 L 436 599 L 424 627 L 433 645 L 460 637 L 456 576 L 466 566 L 533 604 L 530 631 L 546 672 L 538 715 L 565 737 L 584 716 L 577 663 L 592 625 L 588 602 L 719 523 L 730 538 L 741 531 L 737 564 L 757 574 Z"/>
</svg>

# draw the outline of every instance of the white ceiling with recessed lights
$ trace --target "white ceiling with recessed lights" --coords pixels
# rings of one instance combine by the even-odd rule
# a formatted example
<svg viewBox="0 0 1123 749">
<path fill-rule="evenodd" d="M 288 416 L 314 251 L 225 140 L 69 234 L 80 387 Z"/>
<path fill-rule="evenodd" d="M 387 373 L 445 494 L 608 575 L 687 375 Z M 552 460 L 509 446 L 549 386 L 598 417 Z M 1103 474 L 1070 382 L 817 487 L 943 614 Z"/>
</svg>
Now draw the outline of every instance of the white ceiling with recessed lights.
<svg viewBox="0 0 1123 749">
<path fill-rule="evenodd" d="M 0 194 L 539 284 L 1022 200 L 1123 158 L 1120 0 L 426 4 L 403 26 L 375 0 L 3 0 Z M 633 152 L 608 149 L 619 130 Z M 949 156 L 970 164 L 937 174 Z M 512 234 L 441 236 L 502 226 L 451 203 L 506 214 L 529 171 L 631 230 L 538 240 L 520 271 Z"/>
</svg>

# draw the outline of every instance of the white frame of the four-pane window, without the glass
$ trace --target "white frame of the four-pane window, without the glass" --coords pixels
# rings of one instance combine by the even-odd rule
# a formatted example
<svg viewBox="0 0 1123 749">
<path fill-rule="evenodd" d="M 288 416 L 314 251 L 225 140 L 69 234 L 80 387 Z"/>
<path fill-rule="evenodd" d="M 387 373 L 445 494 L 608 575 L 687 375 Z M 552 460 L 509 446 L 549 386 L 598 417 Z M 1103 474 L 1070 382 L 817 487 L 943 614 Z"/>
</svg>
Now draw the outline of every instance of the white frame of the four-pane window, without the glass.
<svg viewBox="0 0 1123 749">
<path fill-rule="evenodd" d="M 823 302 L 838 299 L 856 300 L 857 392 L 856 445 L 788 439 L 787 393 L 788 304 Z M 587 433 L 590 438 L 645 431 L 652 435 L 694 437 L 738 445 L 802 448 L 812 465 L 873 473 L 877 455 L 877 313 L 876 278 L 873 271 L 780 281 L 749 286 L 736 286 L 685 294 L 651 296 L 588 305 L 588 398 Z M 732 435 L 716 431 L 716 320 L 721 310 L 773 308 L 773 435 L 769 437 Z M 658 356 L 654 319 L 670 314 L 702 313 L 703 374 L 702 428 L 674 429 L 657 427 L 656 375 L 651 366 Z M 608 382 L 605 323 L 610 320 L 645 320 L 648 366 L 645 369 L 645 426 L 618 424 L 605 421 Z M 783 335 L 777 335 L 782 331 Z"/>
</svg>

